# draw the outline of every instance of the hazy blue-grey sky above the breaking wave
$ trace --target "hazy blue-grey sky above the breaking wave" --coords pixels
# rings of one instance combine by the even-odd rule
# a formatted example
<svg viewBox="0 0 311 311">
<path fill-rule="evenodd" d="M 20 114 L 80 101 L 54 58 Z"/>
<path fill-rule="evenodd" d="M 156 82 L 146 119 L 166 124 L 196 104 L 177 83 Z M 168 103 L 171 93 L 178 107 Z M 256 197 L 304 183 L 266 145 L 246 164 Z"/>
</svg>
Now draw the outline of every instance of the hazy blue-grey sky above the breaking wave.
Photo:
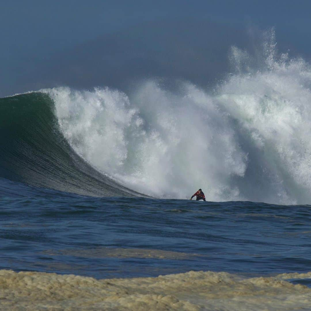
<svg viewBox="0 0 311 311">
<path fill-rule="evenodd" d="M 208 84 L 230 45 L 275 27 L 309 60 L 310 1 L 2 1 L 0 96 L 41 87 L 123 87 L 131 78 Z"/>
</svg>

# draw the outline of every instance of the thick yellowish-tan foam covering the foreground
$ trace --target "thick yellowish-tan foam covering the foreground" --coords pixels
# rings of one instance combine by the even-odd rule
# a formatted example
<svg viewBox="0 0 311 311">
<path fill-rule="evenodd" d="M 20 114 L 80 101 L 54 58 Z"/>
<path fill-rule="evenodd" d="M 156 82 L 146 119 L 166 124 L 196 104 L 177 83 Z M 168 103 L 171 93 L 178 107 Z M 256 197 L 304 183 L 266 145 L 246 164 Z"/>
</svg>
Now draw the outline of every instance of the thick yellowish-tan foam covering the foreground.
<svg viewBox="0 0 311 311">
<path fill-rule="evenodd" d="M 280 277 L 187 272 L 155 278 L 91 277 L 0 270 L 1 310 L 297 310 L 311 289 Z M 311 272 L 295 278 L 310 278 Z"/>
</svg>

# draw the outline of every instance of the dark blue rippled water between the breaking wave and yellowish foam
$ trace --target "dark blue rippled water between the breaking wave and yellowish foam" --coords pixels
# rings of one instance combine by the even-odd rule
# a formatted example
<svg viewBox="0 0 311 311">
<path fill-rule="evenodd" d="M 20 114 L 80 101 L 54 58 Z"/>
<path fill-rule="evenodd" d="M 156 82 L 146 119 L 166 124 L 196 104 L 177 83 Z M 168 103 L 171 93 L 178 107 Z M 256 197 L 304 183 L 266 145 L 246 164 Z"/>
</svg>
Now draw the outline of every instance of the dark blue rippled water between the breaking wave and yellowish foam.
<svg viewBox="0 0 311 311">
<path fill-rule="evenodd" d="M 307 205 L 94 198 L 0 179 L 1 269 L 96 278 L 307 272 L 310 225 Z"/>
</svg>

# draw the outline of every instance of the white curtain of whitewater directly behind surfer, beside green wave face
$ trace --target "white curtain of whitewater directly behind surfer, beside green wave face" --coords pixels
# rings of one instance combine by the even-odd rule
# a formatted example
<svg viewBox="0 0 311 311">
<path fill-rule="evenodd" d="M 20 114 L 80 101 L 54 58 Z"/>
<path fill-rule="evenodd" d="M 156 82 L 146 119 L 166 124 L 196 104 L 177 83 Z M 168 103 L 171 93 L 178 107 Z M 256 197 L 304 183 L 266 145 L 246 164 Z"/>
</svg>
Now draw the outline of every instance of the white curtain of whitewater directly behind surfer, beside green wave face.
<svg viewBox="0 0 311 311">
<path fill-rule="evenodd" d="M 247 156 L 227 114 L 197 87 L 174 94 L 149 81 L 131 101 L 108 88 L 48 92 L 73 149 L 128 188 L 186 198 L 201 187 L 210 200 L 239 198 L 231 176 L 244 175 Z"/>
</svg>

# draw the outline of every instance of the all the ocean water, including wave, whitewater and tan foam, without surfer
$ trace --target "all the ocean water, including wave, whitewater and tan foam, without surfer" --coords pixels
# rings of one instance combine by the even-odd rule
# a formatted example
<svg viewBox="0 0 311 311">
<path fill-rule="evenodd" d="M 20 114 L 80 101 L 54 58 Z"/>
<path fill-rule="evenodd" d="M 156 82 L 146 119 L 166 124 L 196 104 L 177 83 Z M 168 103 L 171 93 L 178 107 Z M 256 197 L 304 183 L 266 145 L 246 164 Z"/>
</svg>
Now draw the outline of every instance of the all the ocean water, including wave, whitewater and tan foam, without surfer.
<svg viewBox="0 0 311 311">
<path fill-rule="evenodd" d="M 262 55 L 1 99 L 1 309 L 311 310 L 311 70 Z"/>
</svg>

